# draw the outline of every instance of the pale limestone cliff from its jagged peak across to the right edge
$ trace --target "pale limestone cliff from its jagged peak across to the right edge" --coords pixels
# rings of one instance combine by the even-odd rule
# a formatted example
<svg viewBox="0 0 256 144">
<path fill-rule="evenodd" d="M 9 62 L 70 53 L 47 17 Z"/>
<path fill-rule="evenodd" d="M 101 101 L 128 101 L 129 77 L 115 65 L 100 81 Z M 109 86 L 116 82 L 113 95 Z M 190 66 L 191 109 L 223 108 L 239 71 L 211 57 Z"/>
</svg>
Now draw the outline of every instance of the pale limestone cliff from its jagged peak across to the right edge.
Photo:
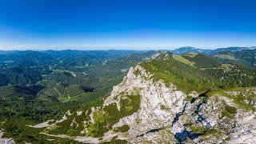
<svg viewBox="0 0 256 144">
<path fill-rule="evenodd" d="M 135 91 L 141 97 L 139 110 L 113 126 L 130 127 L 126 134 L 118 134 L 120 139 L 134 143 L 256 142 L 254 109 L 246 109 L 246 105 L 239 105 L 234 99 L 243 91 L 250 91 L 255 97 L 254 88 L 223 94 L 209 91 L 184 94 L 174 85 L 166 86 L 161 80 L 154 82 L 151 74 L 138 65 L 130 68 L 123 82 L 114 86 L 104 106 L 111 103 L 119 106 L 123 94 L 132 95 Z"/>
</svg>

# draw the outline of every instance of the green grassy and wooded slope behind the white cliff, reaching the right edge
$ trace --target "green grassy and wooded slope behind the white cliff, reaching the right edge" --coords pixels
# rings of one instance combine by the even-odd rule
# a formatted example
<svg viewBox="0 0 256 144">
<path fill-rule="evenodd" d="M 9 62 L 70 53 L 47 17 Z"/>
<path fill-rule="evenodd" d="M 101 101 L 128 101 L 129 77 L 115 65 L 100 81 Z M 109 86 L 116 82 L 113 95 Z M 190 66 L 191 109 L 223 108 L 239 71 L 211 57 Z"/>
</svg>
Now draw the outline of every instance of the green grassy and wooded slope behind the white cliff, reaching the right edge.
<svg viewBox="0 0 256 144">
<path fill-rule="evenodd" d="M 170 53 L 161 53 L 158 58 L 142 62 L 140 65 L 155 80 L 162 79 L 166 84 L 173 83 L 178 89 L 186 92 L 192 90 L 204 91 L 208 89 L 230 88 L 235 86 L 255 86 L 255 70 L 239 68 L 229 65 L 229 69 L 219 62 L 215 62 L 206 55 L 197 54 L 194 58 L 186 56 L 196 62 L 197 67 L 188 66 L 184 61 L 174 59 Z M 201 67 L 208 67 L 202 69 Z M 218 66 L 217 68 L 215 66 Z"/>
</svg>

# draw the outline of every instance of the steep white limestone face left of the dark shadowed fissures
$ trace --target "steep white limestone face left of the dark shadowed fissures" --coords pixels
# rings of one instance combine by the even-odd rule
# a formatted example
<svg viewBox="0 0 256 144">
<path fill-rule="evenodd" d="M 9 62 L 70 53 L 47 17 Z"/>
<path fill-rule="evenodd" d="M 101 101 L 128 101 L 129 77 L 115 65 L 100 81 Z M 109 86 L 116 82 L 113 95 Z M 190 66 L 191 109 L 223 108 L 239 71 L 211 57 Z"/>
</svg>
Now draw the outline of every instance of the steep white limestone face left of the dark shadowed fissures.
<svg viewBox="0 0 256 144">
<path fill-rule="evenodd" d="M 138 75 L 134 74 L 138 70 Z M 176 90 L 175 86 L 166 86 L 162 81 L 154 82 L 150 74 L 141 66 L 130 68 L 127 77 L 118 86 L 114 86 L 112 94 L 104 105 L 113 102 L 119 105 L 122 94 L 133 94 L 137 91 L 141 96 L 138 112 L 121 118 L 113 127 L 129 125 L 129 137 L 136 138 L 147 134 L 150 130 L 161 130 L 171 126 L 175 115 L 182 111 L 186 94 Z"/>
</svg>

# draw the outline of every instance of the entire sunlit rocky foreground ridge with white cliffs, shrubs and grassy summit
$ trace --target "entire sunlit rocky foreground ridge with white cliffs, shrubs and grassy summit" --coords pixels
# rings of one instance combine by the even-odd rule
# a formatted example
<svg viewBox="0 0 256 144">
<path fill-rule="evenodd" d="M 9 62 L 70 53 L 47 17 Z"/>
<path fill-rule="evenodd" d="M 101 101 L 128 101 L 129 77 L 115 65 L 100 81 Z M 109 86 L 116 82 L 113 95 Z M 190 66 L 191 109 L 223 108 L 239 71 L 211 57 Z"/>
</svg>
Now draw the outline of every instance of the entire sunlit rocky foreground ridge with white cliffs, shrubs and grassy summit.
<svg viewBox="0 0 256 144">
<path fill-rule="evenodd" d="M 204 77 L 214 76 L 174 57 L 155 54 L 131 67 L 101 106 L 68 111 L 61 121 L 34 127 L 46 128 L 41 134 L 52 138 L 86 143 L 256 142 L 256 88 L 219 88 L 220 80 L 208 82 Z M 161 62 L 166 66 L 159 70 Z M 188 67 L 187 73 L 201 74 L 202 80 L 191 82 L 190 75 L 184 80 L 186 73 L 175 73 L 175 62 L 179 70 Z"/>
</svg>

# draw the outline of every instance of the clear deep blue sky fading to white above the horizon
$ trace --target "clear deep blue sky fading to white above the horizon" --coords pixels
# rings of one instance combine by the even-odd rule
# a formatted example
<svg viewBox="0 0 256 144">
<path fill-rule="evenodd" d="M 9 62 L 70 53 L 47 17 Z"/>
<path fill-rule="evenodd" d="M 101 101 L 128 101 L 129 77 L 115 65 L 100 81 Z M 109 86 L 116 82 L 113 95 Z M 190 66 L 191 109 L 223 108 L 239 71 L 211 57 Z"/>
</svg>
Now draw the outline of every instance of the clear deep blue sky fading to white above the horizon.
<svg viewBox="0 0 256 144">
<path fill-rule="evenodd" d="M 256 46 L 254 0 L 0 0 L 0 50 Z"/>
</svg>

